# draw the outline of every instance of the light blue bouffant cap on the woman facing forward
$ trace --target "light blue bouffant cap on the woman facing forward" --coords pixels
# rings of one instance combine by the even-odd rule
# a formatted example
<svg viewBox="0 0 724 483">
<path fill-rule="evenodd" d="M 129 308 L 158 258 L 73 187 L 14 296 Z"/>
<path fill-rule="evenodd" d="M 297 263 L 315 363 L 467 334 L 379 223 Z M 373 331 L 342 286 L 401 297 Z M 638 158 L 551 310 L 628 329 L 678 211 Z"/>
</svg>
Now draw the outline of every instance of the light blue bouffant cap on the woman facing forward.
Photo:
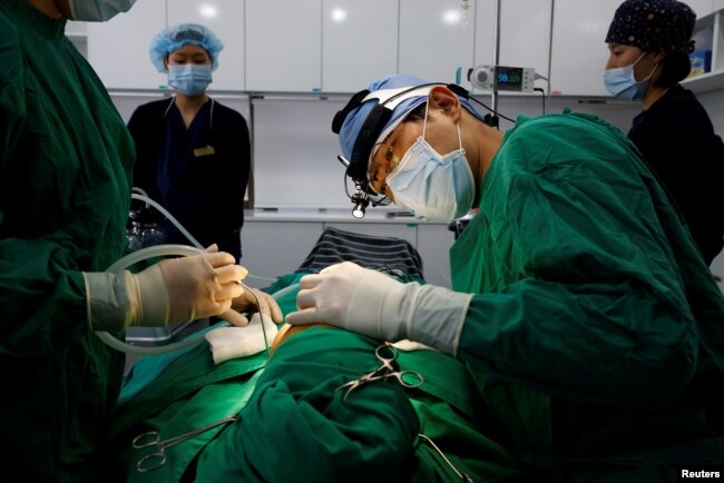
<svg viewBox="0 0 724 483">
<path fill-rule="evenodd" d="M 218 68 L 218 52 L 224 48 L 224 43 L 214 32 L 198 23 L 180 23 L 157 33 L 148 49 L 151 63 L 159 72 L 166 72 L 164 67 L 166 56 L 186 45 L 198 46 L 206 50 L 212 58 L 212 70 Z"/>
</svg>

